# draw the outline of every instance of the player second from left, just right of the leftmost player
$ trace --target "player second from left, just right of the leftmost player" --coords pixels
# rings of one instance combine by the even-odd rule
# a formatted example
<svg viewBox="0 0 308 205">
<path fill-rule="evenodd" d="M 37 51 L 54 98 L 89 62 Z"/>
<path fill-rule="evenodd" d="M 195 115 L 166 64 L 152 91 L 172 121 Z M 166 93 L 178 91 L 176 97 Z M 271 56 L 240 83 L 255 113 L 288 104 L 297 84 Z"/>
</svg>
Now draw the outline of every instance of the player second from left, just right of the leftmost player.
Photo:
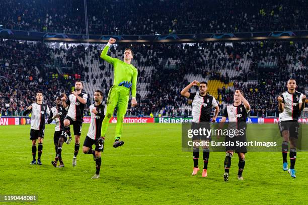
<svg viewBox="0 0 308 205">
<path fill-rule="evenodd" d="M 51 161 L 51 164 L 56 167 L 58 161 L 60 165 L 58 167 L 64 167 L 61 152 L 62 145 L 67 140 L 66 133 L 64 132 L 64 118 L 67 114 L 68 107 L 65 109 L 62 106 L 61 96 L 58 96 L 55 100 L 56 106 L 51 108 L 50 115 L 48 117 L 47 123 L 50 124 L 53 120 L 55 121 L 55 131 L 53 135 L 53 143 L 55 146 L 56 156 L 54 161 Z"/>
</svg>

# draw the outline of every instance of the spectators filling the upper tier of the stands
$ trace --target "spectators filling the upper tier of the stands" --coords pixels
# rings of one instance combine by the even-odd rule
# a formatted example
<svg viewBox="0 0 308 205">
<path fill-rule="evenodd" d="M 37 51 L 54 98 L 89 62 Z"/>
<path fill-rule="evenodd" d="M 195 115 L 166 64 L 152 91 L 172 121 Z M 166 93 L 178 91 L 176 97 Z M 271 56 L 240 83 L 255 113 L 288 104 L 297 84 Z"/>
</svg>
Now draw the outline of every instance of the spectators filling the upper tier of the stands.
<svg viewBox="0 0 308 205">
<path fill-rule="evenodd" d="M 88 4 L 89 34 L 158 35 L 308 30 L 307 1 L 99 1 Z M 206 12 L 204 12 L 206 11 Z M 4 1 L 0 28 L 86 34 L 83 1 Z"/>
</svg>

